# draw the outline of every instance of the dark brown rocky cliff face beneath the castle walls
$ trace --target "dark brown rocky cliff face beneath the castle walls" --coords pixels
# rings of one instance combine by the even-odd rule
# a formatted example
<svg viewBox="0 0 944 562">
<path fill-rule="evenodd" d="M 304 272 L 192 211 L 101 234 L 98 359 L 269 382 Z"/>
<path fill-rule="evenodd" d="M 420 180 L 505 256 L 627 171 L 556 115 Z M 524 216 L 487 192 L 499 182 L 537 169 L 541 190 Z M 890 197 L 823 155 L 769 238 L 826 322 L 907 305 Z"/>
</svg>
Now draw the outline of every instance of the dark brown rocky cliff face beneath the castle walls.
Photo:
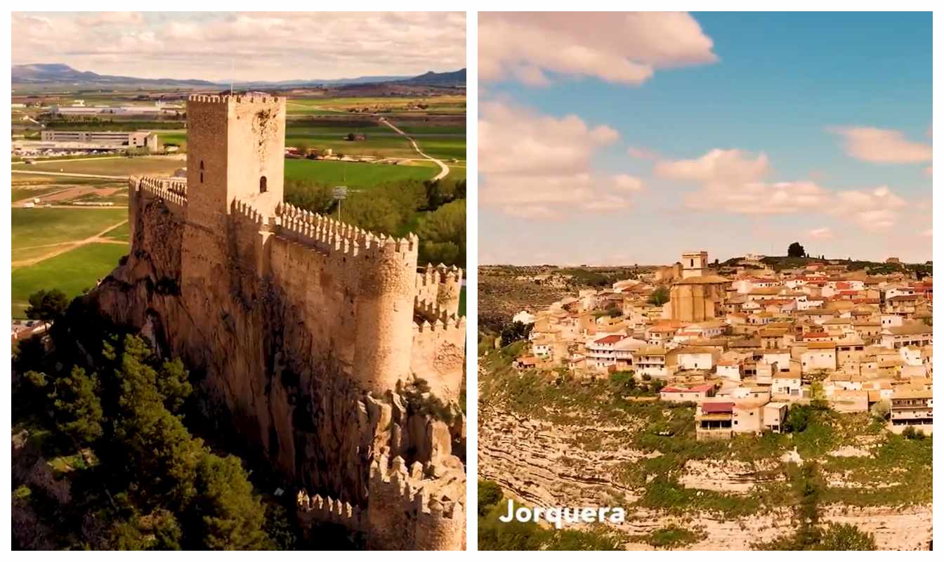
<svg viewBox="0 0 944 562">
<path fill-rule="evenodd" d="M 306 318 L 319 312 L 293 306 L 277 286 L 245 275 L 238 260 L 214 269 L 212 282 L 181 286 L 183 232 L 200 227 L 184 225 L 158 200 L 133 216 L 125 263 L 89 303 L 141 330 L 160 353 L 181 357 L 201 378 L 207 417 L 297 485 L 362 504 L 380 452 L 427 462 L 463 438 L 462 419 L 450 427 L 394 392 L 366 394 L 334 357 L 314 351 Z"/>
</svg>

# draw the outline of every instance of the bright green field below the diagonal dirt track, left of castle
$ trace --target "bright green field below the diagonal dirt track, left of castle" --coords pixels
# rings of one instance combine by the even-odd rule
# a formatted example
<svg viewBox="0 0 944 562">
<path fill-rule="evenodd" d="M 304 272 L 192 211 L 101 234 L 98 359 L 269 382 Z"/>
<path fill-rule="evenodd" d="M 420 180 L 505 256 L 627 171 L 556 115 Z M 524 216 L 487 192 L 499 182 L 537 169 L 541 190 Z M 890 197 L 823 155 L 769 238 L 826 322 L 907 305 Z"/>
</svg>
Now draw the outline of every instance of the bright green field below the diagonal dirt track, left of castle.
<svg viewBox="0 0 944 562">
<path fill-rule="evenodd" d="M 87 244 L 38 264 L 13 270 L 10 279 L 13 317 L 25 317 L 28 299 L 39 289 L 59 289 L 74 298 L 116 265 L 127 253 L 120 244 Z"/>
</svg>

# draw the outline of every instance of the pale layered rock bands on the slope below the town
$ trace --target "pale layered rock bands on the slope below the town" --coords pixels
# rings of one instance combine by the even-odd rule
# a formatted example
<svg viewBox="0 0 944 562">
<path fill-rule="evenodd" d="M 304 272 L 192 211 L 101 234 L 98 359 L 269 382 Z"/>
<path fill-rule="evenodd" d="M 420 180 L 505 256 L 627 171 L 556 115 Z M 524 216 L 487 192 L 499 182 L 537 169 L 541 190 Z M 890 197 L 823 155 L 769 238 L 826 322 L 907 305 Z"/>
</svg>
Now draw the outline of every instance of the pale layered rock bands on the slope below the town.
<svg viewBox="0 0 944 562">
<path fill-rule="evenodd" d="M 551 423 L 488 406 L 480 411 L 480 479 L 494 481 L 507 495 L 535 506 L 623 506 L 627 519 L 613 529 L 627 538 L 628 549 L 651 548 L 643 537 L 673 525 L 699 536 L 685 547 L 691 550 L 746 550 L 754 543 L 796 531 L 793 511 L 787 506 L 726 517 L 700 510 L 676 515 L 632 505 L 642 489 L 625 482 L 622 468 L 647 453 L 620 445 L 625 431 L 592 422 Z M 575 435 L 587 434 L 595 438 L 575 439 Z M 690 460 L 678 482 L 688 488 L 744 496 L 757 486 L 783 480 L 782 475 L 775 475 L 776 464 L 776 460 Z M 931 505 L 858 508 L 833 504 L 821 511 L 824 522 L 854 524 L 872 533 L 879 548 L 886 550 L 927 549 L 931 515 Z"/>
</svg>

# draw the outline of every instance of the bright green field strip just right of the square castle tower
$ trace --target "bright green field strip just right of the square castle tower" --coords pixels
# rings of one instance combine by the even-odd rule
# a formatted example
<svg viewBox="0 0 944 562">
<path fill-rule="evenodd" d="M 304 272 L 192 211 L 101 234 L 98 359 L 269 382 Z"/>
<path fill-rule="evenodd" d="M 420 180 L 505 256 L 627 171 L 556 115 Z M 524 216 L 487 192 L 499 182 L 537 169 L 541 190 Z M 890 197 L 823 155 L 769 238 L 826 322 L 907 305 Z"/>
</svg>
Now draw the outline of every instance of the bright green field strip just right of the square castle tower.
<svg viewBox="0 0 944 562">
<path fill-rule="evenodd" d="M 370 188 L 380 183 L 431 179 L 439 170 L 431 166 L 405 166 L 364 162 L 318 160 L 285 161 L 285 179 L 312 179 L 322 185 Z"/>
</svg>

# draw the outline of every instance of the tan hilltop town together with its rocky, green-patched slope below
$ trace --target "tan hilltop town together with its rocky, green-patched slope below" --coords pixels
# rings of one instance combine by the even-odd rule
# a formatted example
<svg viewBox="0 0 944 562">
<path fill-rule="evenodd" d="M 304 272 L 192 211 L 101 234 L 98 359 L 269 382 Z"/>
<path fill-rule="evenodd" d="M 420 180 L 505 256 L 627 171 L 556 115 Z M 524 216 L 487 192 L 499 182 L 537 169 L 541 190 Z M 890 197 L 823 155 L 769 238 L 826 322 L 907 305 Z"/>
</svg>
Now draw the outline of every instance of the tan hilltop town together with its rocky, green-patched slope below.
<svg viewBox="0 0 944 562">
<path fill-rule="evenodd" d="M 930 264 L 484 269 L 543 298 L 480 325 L 480 478 L 506 497 L 626 505 L 617 548 L 791 550 L 809 520 L 927 548 Z"/>
</svg>

